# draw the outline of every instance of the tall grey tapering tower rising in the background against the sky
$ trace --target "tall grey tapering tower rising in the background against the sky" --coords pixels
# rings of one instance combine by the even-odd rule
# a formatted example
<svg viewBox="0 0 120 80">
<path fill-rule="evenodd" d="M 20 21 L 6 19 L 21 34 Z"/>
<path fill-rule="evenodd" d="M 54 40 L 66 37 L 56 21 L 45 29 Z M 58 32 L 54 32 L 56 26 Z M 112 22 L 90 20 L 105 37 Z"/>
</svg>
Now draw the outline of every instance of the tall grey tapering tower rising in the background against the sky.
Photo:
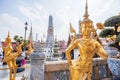
<svg viewBox="0 0 120 80">
<path fill-rule="evenodd" d="M 53 28 L 53 17 L 49 16 L 48 30 L 47 30 L 47 39 L 46 39 L 46 48 L 53 49 L 54 47 L 54 28 Z"/>
</svg>

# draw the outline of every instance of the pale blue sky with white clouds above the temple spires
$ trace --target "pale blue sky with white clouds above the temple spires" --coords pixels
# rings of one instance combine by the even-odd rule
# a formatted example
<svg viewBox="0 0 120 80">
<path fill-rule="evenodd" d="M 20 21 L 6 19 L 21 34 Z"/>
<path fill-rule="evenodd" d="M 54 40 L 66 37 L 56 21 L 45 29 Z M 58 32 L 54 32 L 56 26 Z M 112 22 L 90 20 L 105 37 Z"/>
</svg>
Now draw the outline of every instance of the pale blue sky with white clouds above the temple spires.
<svg viewBox="0 0 120 80">
<path fill-rule="evenodd" d="M 90 19 L 96 24 L 120 13 L 120 0 L 88 0 Z M 33 37 L 47 35 L 48 18 L 53 16 L 54 35 L 58 40 L 67 40 L 69 23 L 78 32 L 78 22 L 83 19 L 85 0 L 0 0 L 0 38 L 4 40 L 8 31 L 24 37 L 24 23 L 31 22 Z M 45 38 L 44 38 L 45 40 Z"/>
</svg>

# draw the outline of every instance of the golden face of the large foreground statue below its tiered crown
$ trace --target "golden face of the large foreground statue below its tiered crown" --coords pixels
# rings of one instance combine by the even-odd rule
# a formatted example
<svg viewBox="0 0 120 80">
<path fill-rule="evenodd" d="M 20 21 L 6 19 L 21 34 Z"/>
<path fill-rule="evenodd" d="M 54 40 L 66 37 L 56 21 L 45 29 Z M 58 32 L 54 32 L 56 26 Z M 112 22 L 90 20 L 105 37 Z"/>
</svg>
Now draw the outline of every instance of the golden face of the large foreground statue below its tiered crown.
<svg viewBox="0 0 120 80">
<path fill-rule="evenodd" d="M 88 23 L 83 23 L 81 24 L 81 32 L 83 34 L 83 36 L 90 36 L 92 30 L 93 30 L 93 25 L 92 23 L 88 22 Z"/>
</svg>

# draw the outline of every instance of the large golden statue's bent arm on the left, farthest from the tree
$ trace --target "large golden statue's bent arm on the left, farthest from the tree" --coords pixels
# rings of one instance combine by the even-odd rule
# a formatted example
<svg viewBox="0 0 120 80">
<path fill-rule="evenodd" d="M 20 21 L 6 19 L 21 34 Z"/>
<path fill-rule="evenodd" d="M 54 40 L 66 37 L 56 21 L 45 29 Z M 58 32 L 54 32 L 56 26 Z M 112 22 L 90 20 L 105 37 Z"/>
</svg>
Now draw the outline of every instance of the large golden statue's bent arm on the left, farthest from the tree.
<svg viewBox="0 0 120 80">
<path fill-rule="evenodd" d="M 67 58 L 67 61 L 68 61 L 69 65 L 72 65 L 70 52 L 71 52 L 71 50 L 73 50 L 75 47 L 76 47 L 76 46 L 75 46 L 74 42 L 72 42 L 72 43 L 68 46 L 68 48 L 66 49 L 66 58 Z"/>
</svg>

